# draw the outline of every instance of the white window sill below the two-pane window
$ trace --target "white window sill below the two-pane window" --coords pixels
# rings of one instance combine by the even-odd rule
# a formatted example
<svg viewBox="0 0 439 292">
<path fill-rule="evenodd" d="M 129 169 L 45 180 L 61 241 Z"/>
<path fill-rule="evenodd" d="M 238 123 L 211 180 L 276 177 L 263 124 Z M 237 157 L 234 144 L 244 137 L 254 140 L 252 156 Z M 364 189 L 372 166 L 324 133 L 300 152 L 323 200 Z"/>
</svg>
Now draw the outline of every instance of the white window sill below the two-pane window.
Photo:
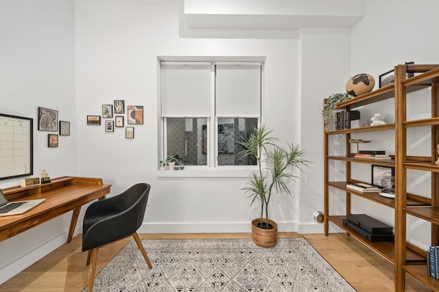
<svg viewBox="0 0 439 292">
<path fill-rule="evenodd" d="M 254 170 L 233 170 L 233 169 L 221 169 L 221 170 L 157 170 L 157 177 L 219 177 L 219 178 L 249 178 L 252 176 Z"/>
</svg>

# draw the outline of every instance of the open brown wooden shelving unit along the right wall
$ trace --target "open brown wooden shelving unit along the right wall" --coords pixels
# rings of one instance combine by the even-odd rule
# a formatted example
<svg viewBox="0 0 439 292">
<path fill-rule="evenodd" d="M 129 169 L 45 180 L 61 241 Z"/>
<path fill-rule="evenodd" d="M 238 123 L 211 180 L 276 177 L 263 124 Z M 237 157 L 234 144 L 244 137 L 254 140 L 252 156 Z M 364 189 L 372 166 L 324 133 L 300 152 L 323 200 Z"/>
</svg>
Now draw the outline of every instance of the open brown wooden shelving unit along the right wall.
<svg viewBox="0 0 439 292">
<path fill-rule="evenodd" d="M 439 65 L 398 65 L 394 68 L 395 84 L 380 88 L 367 94 L 357 96 L 337 105 L 337 109 L 349 110 L 356 107 L 370 105 L 394 97 L 395 122 L 375 127 L 344 129 L 324 133 L 324 232 L 329 232 L 329 223 L 335 224 L 359 240 L 371 250 L 377 252 L 391 263 L 394 263 L 395 291 L 404 291 L 405 274 L 410 274 L 426 287 L 439 291 L 439 281 L 427 274 L 427 254 L 424 250 L 406 242 L 406 217 L 412 215 L 421 220 L 431 222 L 431 245 L 439 245 L 439 165 L 436 161 L 436 145 L 439 143 Z M 406 79 L 407 72 L 416 72 L 416 76 Z M 407 93 L 415 92 L 431 86 L 431 118 L 422 120 L 406 120 Z M 407 155 L 407 131 L 409 127 L 431 126 L 431 153 L 425 157 Z M 369 131 L 394 131 L 395 155 L 392 159 L 372 160 L 355 159 L 351 154 L 348 140 L 351 133 Z M 329 136 L 345 135 L 346 155 L 329 155 Z M 344 161 L 346 165 L 346 181 L 330 181 L 329 161 Z M 374 165 L 392 166 L 395 168 L 394 199 L 385 198 L 378 193 L 361 193 L 346 188 L 346 184 L 355 183 L 351 179 L 351 164 L 366 163 Z M 407 170 L 421 170 L 431 172 L 431 196 L 416 196 L 407 193 Z M 330 189 L 342 190 L 346 193 L 346 215 L 351 213 L 351 198 L 357 196 L 370 200 L 376 204 L 394 209 L 394 242 L 370 242 L 357 235 L 343 224 L 346 215 L 329 214 Z M 332 193 L 331 193 L 332 194 Z M 430 194 L 426 194 L 430 195 Z"/>
</svg>

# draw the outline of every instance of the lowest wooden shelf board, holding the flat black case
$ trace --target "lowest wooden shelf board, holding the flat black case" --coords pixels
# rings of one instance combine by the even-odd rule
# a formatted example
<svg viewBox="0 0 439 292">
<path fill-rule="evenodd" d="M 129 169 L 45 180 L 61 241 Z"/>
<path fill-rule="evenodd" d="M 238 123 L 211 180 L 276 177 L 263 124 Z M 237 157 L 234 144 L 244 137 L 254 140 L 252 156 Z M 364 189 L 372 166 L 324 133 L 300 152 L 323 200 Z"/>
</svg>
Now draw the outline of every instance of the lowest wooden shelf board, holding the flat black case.
<svg viewBox="0 0 439 292">
<path fill-rule="evenodd" d="M 346 233 L 350 234 L 352 237 L 354 237 L 355 239 L 366 245 L 368 248 L 374 250 L 375 252 L 377 252 L 377 254 L 383 256 L 383 258 L 390 261 L 390 263 L 394 263 L 395 248 L 393 241 L 391 242 L 367 241 L 366 239 L 364 239 L 364 237 L 357 235 L 357 233 L 355 233 L 353 230 L 343 225 L 343 219 L 346 219 L 346 216 L 328 216 L 327 218 L 330 222 L 333 222 L 333 224 L 345 230 Z M 423 256 L 422 254 L 418 254 L 417 252 L 414 252 L 414 250 L 411 250 L 410 248 L 406 248 L 406 259 L 407 261 L 416 262 L 416 263 L 426 261 L 425 256 Z"/>
</svg>

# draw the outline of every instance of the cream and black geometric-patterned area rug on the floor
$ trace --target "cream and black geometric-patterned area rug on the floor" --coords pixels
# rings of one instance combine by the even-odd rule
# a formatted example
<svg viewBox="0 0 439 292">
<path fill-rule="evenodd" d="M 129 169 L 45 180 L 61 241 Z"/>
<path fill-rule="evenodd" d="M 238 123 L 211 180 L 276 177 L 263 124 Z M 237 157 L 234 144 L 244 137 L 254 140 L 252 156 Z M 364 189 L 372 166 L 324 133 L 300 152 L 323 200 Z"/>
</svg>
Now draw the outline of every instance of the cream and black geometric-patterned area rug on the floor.
<svg viewBox="0 0 439 292">
<path fill-rule="evenodd" d="M 305 238 L 260 248 L 251 239 L 130 241 L 95 278 L 93 291 L 355 291 Z M 84 292 L 88 288 L 84 289 Z"/>
</svg>

